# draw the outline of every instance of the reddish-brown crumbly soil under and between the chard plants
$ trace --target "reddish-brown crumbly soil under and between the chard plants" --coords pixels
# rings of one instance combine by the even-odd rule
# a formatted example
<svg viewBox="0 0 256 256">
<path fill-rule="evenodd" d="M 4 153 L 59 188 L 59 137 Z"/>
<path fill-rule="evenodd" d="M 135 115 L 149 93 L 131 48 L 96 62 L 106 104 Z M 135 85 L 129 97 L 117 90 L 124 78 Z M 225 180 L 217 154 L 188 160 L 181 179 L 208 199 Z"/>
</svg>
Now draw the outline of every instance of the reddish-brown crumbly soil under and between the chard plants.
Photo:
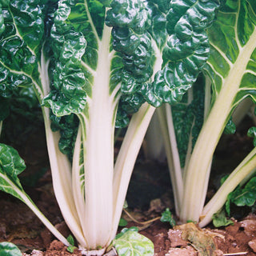
<svg viewBox="0 0 256 256">
<path fill-rule="evenodd" d="M 26 150 L 26 146 L 18 149 L 22 158 L 26 159 L 27 165 L 27 170 L 21 177 L 22 182 L 27 194 L 36 202 L 46 218 L 49 218 L 62 234 L 68 236 L 70 230 L 63 222 L 62 214 L 54 199 L 46 146 L 36 138 L 38 135 L 35 134 L 34 138 L 32 134 L 26 141 L 28 145 L 34 145 L 34 142 L 37 142 L 33 150 L 31 148 Z M 241 149 L 243 154 L 246 154 L 250 147 L 251 140 L 239 133 L 235 135 L 235 139 L 229 136 L 222 139 L 222 146 L 218 147 L 215 154 L 218 165 L 213 166 L 214 176 L 210 179 L 208 197 L 214 193 L 223 175 L 223 171 L 219 174 L 218 170 L 225 170 L 224 174 L 228 173 L 236 164 L 234 159 L 238 162 L 243 157 Z M 235 149 L 240 149 L 240 153 L 238 154 Z M 26 182 L 27 177 L 30 177 L 30 182 Z M 31 183 L 31 177 L 36 182 L 32 182 L 34 186 L 27 186 Z M 161 216 L 162 210 L 166 207 L 174 212 L 170 181 L 166 177 L 168 177 L 166 163 L 148 162 L 142 156 L 139 158 L 127 194 L 129 212 L 134 218 L 139 221 L 156 218 Z M 136 196 L 138 189 L 139 198 Z M 13 242 L 22 250 L 23 256 L 81 255 L 78 250 L 74 250 L 73 254 L 69 253 L 62 242 L 55 240 L 33 212 L 18 199 L 0 192 L 0 206 L 0 242 Z M 210 241 L 214 242 L 215 248 L 212 250 L 206 246 L 204 252 L 191 240 L 189 242 L 184 238 L 182 226 L 172 229 L 168 223 L 162 223 L 159 220 L 152 222 L 150 226 L 142 226 L 133 222 L 125 213 L 122 217 L 128 221 L 127 226 L 138 226 L 139 232 L 154 242 L 154 256 L 256 255 L 256 214 L 248 209 L 236 210 L 234 225 L 225 228 L 216 229 L 213 226 L 207 226 L 199 230 L 194 226 L 194 230 L 199 232 L 197 234 L 203 234 L 207 239 L 210 235 Z"/>
</svg>

